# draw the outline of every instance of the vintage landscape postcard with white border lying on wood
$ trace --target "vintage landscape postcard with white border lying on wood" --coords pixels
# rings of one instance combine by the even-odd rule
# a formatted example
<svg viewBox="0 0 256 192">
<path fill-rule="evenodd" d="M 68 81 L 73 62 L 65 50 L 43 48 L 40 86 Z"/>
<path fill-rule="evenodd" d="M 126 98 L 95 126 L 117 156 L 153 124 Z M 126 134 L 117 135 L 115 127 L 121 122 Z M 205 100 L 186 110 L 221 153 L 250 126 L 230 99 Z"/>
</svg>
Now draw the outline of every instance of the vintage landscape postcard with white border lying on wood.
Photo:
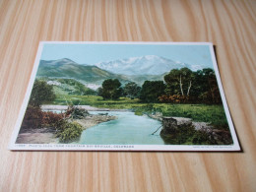
<svg viewBox="0 0 256 192">
<path fill-rule="evenodd" d="M 40 42 L 10 150 L 239 151 L 209 42 Z"/>
</svg>

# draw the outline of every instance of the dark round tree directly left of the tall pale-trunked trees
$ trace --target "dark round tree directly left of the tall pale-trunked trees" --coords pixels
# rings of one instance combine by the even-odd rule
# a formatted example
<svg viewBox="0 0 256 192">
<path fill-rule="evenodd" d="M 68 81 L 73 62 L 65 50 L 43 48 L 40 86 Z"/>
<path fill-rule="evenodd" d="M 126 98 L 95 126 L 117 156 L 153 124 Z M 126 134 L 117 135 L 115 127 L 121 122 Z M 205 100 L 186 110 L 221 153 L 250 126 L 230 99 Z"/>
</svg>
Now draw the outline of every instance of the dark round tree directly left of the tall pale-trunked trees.
<svg viewBox="0 0 256 192">
<path fill-rule="evenodd" d="M 158 102 L 159 96 L 164 94 L 165 88 L 162 81 L 145 81 L 140 98 L 145 102 Z"/>
</svg>

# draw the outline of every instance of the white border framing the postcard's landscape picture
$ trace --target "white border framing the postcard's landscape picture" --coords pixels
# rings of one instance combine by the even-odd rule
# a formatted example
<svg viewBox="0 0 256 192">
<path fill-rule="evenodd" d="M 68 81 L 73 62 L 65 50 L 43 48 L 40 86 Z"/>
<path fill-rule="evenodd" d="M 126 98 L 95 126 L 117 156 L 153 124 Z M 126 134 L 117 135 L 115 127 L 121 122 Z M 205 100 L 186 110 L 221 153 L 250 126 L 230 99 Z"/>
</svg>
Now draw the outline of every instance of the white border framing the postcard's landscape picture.
<svg viewBox="0 0 256 192">
<path fill-rule="evenodd" d="M 22 125 L 27 105 L 32 93 L 32 85 L 35 80 L 36 72 L 44 44 L 162 44 L 162 45 L 208 45 L 212 57 L 214 70 L 216 73 L 220 93 L 222 96 L 224 111 L 233 140 L 232 145 L 82 145 L 82 144 L 16 144 L 16 140 Z M 224 88 L 217 65 L 217 60 L 212 42 L 159 42 L 159 41 L 40 41 L 37 49 L 36 58 L 32 68 L 30 83 L 24 98 L 15 129 L 9 144 L 12 151 L 240 151 L 240 146 L 231 120 L 230 112 L 224 96 Z"/>
</svg>

